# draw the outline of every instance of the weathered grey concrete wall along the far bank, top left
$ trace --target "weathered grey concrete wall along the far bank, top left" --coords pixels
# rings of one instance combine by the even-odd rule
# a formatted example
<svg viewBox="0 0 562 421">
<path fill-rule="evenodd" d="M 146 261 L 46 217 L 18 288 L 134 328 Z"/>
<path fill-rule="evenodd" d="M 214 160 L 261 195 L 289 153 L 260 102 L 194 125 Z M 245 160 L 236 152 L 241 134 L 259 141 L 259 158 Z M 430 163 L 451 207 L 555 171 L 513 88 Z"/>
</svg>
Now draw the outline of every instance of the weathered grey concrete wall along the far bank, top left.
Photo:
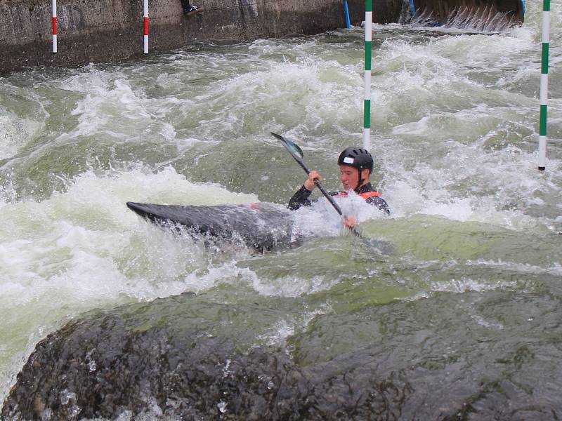
<svg viewBox="0 0 562 421">
<path fill-rule="evenodd" d="M 396 2 L 398 0 L 382 0 Z M 345 26 L 343 0 L 149 0 L 150 52 L 193 41 L 317 34 Z M 354 24 L 364 1 L 349 0 Z M 58 0 L 58 53 L 51 53 L 51 0 L 0 0 L 0 73 L 30 66 L 77 66 L 143 55 L 142 0 Z"/>
</svg>

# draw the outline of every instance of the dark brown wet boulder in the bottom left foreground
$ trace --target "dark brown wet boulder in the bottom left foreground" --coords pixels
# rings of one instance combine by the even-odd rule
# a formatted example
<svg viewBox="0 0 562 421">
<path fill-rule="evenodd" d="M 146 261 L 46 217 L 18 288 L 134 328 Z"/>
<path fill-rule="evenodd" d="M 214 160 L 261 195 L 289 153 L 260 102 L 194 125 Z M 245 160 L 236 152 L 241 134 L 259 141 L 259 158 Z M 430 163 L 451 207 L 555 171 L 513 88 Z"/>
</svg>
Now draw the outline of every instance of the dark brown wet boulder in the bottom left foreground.
<svg viewBox="0 0 562 421">
<path fill-rule="evenodd" d="M 394 385 L 387 390 L 372 370 L 350 375 L 345 364 L 299 367 L 285 349 L 251 345 L 254 326 L 238 321 L 258 305 L 233 308 L 197 298 L 184 294 L 97 312 L 48 335 L 18 375 L 2 420 L 398 415 L 399 406 L 388 402 L 400 401 L 403 392 Z M 276 316 L 264 309 L 264 324 Z"/>
</svg>

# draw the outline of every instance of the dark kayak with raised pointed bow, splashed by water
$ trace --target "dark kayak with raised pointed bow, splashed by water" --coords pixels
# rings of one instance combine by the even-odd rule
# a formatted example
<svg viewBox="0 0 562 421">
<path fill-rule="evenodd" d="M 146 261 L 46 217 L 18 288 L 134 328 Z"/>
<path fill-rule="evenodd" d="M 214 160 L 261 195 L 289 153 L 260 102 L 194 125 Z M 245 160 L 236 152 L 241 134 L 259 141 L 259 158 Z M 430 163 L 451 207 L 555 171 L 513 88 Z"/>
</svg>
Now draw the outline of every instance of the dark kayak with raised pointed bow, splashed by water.
<svg viewBox="0 0 562 421">
<path fill-rule="evenodd" d="M 187 229 L 195 239 L 242 241 L 248 248 L 272 250 L 298 246 L 292 213 L 274 203 L 176 206 L 127 202 L 127 207 L 157 225 Z"/>
</svg>

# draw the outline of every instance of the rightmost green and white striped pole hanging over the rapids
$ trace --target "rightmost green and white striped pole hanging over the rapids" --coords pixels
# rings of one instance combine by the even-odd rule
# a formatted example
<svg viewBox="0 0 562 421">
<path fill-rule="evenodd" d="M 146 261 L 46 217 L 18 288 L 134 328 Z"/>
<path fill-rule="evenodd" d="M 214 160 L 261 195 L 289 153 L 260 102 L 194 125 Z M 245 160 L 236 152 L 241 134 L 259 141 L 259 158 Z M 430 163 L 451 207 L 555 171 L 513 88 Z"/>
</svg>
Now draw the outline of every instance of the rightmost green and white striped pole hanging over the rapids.
<svg viewBox="0 0 562 421">
<path fill-rule="evenodd" d="M 549 94 L 550 0 L 542 1 L 542 60 L 540 74 L 539 171 L 547 161 L 547 104 Z"/>
</svg>

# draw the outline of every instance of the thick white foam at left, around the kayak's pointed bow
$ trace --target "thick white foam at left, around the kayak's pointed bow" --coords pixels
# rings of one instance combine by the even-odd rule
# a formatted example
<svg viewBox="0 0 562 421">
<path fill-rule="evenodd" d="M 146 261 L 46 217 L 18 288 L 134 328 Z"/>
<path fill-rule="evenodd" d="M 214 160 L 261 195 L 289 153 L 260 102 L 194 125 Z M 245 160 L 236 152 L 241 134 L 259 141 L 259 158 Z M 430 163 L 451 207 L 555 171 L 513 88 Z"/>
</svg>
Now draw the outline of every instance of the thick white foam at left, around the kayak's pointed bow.
<svg viewBox="0 0 562 421">
<path fill-rule="evenodd" d="M 45 201 L 2 207 L 0 222 L 1 390 L 45 330 L 93 307 L 152 300 L 209 288 L 232 272 L 200 244 L 172 236 L 128 210 L 125 202 L 247 203 L 217 185 L 196 185 L 173 168 L 152 173 L 86 171 Z M 209 271 L 208 274 L 195 272 Z M 14 360 L 15 359 L 15 360 Z M 8 366 L 11 366 L 8 369 Z M 8 378 L 6 378 L 6 376 Z"/>
</svg>

